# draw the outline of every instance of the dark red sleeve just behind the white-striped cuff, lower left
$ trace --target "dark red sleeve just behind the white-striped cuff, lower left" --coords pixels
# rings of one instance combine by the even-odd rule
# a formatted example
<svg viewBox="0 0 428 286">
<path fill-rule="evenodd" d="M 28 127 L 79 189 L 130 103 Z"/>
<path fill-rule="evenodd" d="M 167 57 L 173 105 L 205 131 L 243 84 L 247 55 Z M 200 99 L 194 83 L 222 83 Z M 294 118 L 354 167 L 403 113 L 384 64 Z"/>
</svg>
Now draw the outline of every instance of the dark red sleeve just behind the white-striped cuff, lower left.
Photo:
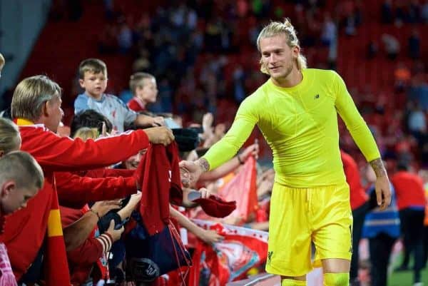
<svg viewBox="0 0 428 286">
<path fill-rule="evenodd" d="M 103 255 L 103 245 L 96 238 L 88 238 L 83 244 L 67 252 L 71 265 L 92 265 Z"/>
</svg>

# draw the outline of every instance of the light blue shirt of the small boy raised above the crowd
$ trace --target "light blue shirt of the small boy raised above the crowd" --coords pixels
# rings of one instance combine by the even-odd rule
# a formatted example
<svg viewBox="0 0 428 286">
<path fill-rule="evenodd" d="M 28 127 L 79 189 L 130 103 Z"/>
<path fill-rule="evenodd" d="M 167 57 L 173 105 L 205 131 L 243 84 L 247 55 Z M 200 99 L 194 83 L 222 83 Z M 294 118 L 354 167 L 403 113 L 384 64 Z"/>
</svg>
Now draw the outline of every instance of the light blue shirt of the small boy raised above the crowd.
<svg viewBox="0 0 428 286">
<path fill-rule="evenodd" d="M 122 133 L 125 124 L 131 124 L 136 121 L 137 113 L 131 111 L 123 101 L 116 96 L 104 93 L 98 101 L 95 98 L 88 96 L 86 93 L 79 94 L 74 101 L 74 114 L 81 111 L 93 109 L 101 113 L 111 122 L 113 130 Z"/>
</svg>

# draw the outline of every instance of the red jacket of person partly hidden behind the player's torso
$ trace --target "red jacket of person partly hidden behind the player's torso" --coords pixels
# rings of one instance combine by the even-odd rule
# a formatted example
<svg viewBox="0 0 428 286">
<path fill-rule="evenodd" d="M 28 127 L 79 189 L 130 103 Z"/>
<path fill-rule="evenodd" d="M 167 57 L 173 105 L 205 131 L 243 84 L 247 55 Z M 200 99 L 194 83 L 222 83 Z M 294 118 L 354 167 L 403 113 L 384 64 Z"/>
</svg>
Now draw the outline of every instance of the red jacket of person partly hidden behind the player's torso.
<svg viewBox="0 0 428 286">
<path fill-rule="evenodd" d="M 362 188 L 360 171 L 355 160 L 342 150 L 340 150 L 340 157 L 342 158 L 346 181 L 350 185 L 351 208 L 355 210 L 367 202 L 369 196 L 365 193 L 364 188 Z"/>
</svg>

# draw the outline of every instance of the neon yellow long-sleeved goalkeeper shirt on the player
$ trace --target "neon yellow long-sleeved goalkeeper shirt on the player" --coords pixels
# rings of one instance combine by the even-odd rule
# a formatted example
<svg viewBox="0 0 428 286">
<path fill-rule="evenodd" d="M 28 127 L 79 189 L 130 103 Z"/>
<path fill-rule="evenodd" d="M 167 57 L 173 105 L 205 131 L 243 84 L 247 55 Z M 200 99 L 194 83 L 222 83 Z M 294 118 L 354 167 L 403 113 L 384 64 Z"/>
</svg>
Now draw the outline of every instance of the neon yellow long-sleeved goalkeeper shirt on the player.
<svg viewBox="0 0 428 286">
<path fill-rule="evenodd" d="M 273 154 L 275 181 L 294 188 L 345 182 L 337 113 L 367 161 L 380 158 L 367 124 L 335 71 L 302 70 L 291 88 L 266 81 L 245 98 L 226 135 L 203 156 L 210 168 L 233 158 L 253 131 L 262 131 Z"/>
</svg>

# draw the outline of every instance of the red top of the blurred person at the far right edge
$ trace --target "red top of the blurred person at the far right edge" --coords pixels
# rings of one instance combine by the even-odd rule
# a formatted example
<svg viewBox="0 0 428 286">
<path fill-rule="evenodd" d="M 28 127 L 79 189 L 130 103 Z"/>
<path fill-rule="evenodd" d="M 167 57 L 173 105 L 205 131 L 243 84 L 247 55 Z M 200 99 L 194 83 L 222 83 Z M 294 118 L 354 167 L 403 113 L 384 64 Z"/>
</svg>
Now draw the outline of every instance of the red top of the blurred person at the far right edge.
<svg viewBox="0 0 428 286">
<path fill-rule="evenodd" d="M 399 171 L 391 178 L 399 210 L 409 207 L 425 208 L 424 183 L 418 175 Z"/>
</svg>

